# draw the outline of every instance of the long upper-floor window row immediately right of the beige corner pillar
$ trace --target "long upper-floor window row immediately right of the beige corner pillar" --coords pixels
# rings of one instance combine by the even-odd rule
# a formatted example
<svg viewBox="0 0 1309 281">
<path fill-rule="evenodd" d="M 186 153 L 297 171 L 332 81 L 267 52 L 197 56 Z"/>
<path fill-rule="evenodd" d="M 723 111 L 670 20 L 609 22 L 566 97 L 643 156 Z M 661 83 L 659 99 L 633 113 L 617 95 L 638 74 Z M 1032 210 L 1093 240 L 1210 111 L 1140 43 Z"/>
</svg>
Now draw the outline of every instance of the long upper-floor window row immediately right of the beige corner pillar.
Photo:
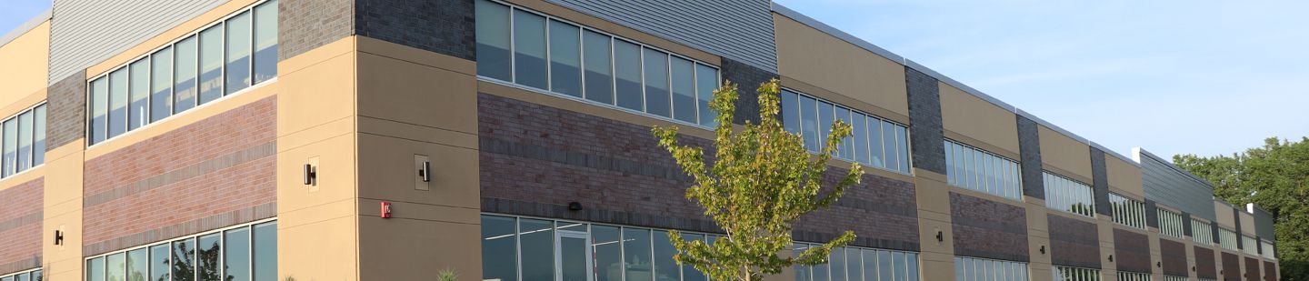
<svg viewBox="0 0 1309 281">
<path fill-rule="evenodd" d="M 719 69 L 524 8 L 476 1 L 478 76 L 713 127 Z"/>
</svg>

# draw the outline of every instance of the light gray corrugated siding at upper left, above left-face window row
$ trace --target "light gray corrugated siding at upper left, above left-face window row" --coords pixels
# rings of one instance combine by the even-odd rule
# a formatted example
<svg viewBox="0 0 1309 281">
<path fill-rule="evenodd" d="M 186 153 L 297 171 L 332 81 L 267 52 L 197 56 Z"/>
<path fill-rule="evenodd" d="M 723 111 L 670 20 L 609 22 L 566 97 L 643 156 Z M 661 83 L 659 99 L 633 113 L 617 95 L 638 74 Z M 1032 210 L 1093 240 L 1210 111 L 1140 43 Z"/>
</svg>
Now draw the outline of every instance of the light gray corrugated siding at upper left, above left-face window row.
<svg viewBox="0 0 1309 281">
<path fill-rule="evenodd" d="M 223 3 L 226 0 L 54 0 L 50 84 Z"/>
</svg>

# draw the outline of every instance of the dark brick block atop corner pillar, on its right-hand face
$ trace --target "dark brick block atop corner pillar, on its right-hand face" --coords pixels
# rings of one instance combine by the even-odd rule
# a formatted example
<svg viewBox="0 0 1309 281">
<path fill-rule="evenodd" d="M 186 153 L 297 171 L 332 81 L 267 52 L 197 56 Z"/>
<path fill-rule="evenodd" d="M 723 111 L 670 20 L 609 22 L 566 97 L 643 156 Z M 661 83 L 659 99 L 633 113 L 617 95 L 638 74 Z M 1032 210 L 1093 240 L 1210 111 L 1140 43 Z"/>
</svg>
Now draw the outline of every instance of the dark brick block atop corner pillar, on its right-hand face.
<svg viewBox="0 0 1309 281">
<path fill-rule="evenodd" d="M 355 34 L 476 59 L 473 0 L 356 0 Z"/>
</svg>

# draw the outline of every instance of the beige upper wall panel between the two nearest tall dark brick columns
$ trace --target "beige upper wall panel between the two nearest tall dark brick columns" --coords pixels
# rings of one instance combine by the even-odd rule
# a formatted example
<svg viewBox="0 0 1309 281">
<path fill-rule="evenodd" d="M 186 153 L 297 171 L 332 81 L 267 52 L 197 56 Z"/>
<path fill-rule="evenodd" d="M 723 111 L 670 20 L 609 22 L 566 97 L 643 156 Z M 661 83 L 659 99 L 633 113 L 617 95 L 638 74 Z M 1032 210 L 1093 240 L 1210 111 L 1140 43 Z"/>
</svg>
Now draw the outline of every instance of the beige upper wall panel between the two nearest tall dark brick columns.
<svg viewBox="0 0 1309 281">
<path fill-rule="evenodd" d="M 949 84 L 937 84 L 941 89 L 941 125 L 946 131 L 997 146 L 1013 156 L 1018 154 L 1018 123 L 1013 111 Z"/>
</svg>

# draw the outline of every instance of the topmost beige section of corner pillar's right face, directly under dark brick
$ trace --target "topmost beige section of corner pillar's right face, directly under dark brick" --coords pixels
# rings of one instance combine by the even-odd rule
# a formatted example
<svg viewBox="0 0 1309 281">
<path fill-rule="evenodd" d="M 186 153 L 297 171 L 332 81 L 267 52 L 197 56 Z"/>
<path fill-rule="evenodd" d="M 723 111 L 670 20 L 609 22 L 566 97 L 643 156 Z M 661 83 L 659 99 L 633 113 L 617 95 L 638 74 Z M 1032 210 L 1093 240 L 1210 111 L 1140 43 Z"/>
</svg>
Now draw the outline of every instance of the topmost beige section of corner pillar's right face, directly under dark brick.
<svg viewBox="0 0 1309 281">
<path fill-rule="evenodd" d="M 476 133 L 476 77 L 445 68 L 360 52 L 359 115 Z"/>
</svg>

